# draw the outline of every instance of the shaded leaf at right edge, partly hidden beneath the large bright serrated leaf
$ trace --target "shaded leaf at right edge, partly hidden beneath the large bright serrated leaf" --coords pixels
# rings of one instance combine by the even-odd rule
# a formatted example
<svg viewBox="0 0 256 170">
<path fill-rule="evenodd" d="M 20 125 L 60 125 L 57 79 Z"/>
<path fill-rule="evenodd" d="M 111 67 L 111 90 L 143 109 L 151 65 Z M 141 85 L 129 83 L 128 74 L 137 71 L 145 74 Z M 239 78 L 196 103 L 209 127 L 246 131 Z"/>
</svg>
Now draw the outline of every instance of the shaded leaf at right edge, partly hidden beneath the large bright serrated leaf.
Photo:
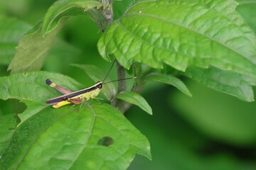
<svg viewBox="0 0 256 170">
<path fill-rule="evenodd" d="M 247 82 L 242 81 L 244 78 L 241 74 L 223 71 L 215 67 L 208 69 L 191 67 L 186 70 L 184 75 L 211 89 L 230 94 L 243 101 L 254 101 L 252 87 Z"/>
</svg>

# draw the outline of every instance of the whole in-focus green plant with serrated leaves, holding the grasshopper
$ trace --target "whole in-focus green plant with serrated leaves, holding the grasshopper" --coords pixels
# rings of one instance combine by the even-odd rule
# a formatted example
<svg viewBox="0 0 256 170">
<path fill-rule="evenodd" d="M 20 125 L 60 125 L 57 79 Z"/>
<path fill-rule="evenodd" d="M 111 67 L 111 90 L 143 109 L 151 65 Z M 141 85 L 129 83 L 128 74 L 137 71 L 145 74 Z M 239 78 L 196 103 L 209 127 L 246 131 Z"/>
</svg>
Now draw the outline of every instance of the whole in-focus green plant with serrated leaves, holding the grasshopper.
<svg viewBox="0 0 256 170">
<path fill-rule="evenodd" d="M 1 64 L 11 62 L 11 75 L 0 78 L 0 98 L 18 99 L 26 104 L 26 109 L 18 115 L 1 115 L 1 169 L 127 169 L 135 154 L 151 159 L 149 141 L 121 114 L 131 103 L 152 113 L 139 95 L 147 81 L 171 84 L 191 96 L 177 78 L 183 75 L 243 101 L 254 100 L 256 37 L 253 23 L 250 28 L 235 11 L 236 1 L 119 3 L 56 1 L 43 21 L 23 35 L 13 60 L 10 61 L 13 54 L 8 53 L 13 49 L 11 43 L 2 50 L 6 53 L 1 56 Z M 54 109 L 45 101 L 59 94 L 46 86 L 46 79 L 71 90 L 85 86 L 63 74 L 38 70 L 68 18 L 84 14 L 104 32 L 97 49 L 105 60 L 117 59 L 117 79 L 124 79 L 126 73 L 137 79 L 131 91 L 127 90 L 126 81 L 118 81 L 117 94 L 113 84 L 106 86 L 103 93 L 108 103 L 90 100 L 82 108 Z M 6 32 L 18 30 L 22 35 L 29 28 L 6 17 L 0 21 L 9 23 L 8 29 L 1 28 Z M 66 47 L 62 40 L 57 42 L 61 50 Z M 61 50 L 55 55 L 60 55 Z M 73 49 L 70 51 L 72 55 Z M 105 75 L 95 66 L 73 66 L 95 81 L 101 81 Z"/>
</svg>

